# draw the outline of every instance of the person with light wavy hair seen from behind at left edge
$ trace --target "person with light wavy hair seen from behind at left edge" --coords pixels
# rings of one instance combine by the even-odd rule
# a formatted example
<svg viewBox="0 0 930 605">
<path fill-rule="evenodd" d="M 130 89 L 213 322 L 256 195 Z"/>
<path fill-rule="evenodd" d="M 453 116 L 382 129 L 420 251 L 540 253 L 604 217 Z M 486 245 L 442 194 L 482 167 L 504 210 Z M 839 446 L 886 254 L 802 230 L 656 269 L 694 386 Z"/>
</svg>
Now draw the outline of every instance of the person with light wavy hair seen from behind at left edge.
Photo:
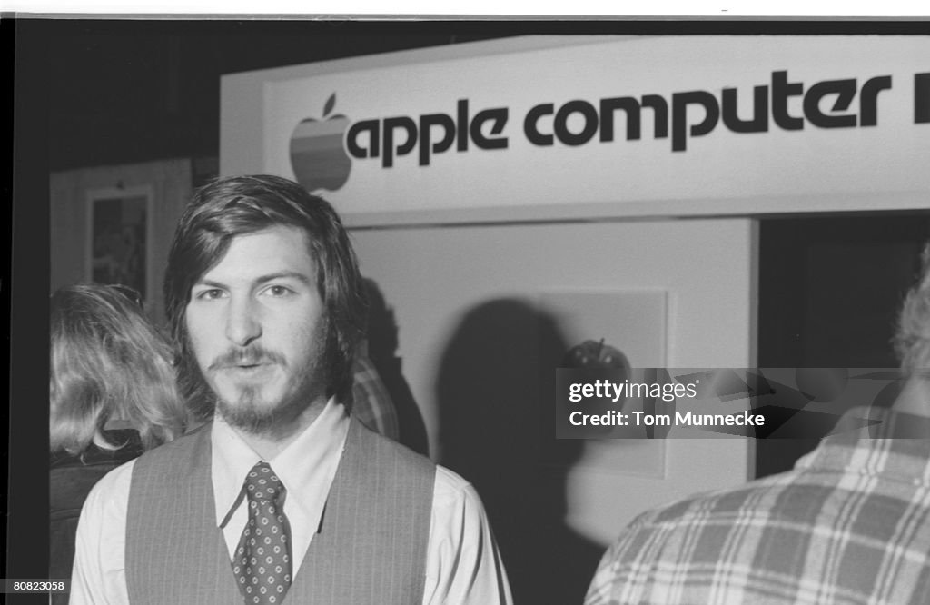
<svg viewBox="0 0 930 605">
<path fill-rule="evenodd" d="M 71 575 L 81 506 L 100 477 L 184 432 L 171 349 L 138 298 L 99 285 L 62 288 L 51 298 L 51 578 Z"/>
</svg>

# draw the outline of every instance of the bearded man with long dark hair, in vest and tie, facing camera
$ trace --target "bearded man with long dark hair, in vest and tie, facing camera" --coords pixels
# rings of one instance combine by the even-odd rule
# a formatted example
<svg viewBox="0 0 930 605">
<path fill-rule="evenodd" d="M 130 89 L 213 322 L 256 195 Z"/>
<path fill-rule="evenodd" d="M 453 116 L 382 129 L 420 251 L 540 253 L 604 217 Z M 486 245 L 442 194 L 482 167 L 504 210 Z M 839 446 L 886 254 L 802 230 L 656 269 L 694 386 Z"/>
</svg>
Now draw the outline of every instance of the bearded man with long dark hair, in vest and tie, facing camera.
<svg viewBox="0 0 930 605">
<path fill-rule="evenodd" d="M 341 401 L 365 296 L 323 199 L 271 176 L 194 195 L 168 257 L 203 427 L 104 477 L 72 603 L 509 603 L 481 502 Z"/>
</svg>

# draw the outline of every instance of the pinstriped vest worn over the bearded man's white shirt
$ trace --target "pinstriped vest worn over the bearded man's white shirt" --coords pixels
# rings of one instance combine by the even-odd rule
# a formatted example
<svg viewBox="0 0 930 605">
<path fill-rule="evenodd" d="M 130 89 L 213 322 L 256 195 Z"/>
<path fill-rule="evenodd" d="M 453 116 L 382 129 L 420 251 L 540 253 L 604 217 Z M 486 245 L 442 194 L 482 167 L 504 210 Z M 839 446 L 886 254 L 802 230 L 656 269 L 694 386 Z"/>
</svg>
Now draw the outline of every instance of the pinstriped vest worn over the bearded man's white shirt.
<svg viewBox="0 0 930 605">
<path fill-rule="evenodd" d="M 285 603 L 421 602 L 435 470 L 353 419 L 320 528 Z M 136 461 L 126 587 L 133 605 L 244 602 L 216 522 L 209 425 Z"/>
</svg>

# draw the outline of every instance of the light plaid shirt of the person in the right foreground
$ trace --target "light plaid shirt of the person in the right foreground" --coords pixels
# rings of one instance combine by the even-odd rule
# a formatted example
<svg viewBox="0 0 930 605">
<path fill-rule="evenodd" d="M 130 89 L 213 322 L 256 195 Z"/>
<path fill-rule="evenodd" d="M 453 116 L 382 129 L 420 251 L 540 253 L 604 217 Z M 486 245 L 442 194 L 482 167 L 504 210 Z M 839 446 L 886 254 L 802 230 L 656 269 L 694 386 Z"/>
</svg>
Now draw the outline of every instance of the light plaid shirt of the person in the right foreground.
<svg viewBox="0 0 930 605">
<path fill-rule="evenodd" d="M 826 437 L 788 473 L 634 519 L 586 605 L 930 603 L 930 438 L 887 438 L 926 422 L 849 413 L 880 438 Z"/>
</svg>

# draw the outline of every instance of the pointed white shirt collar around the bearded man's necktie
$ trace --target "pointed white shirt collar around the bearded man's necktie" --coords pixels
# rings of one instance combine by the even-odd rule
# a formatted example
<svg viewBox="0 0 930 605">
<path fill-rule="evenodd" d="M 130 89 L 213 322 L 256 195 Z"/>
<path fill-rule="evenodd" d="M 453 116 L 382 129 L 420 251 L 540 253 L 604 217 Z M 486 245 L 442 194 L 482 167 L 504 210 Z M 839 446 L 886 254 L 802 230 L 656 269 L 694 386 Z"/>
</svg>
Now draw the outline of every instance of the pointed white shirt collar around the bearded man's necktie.
<svg viewBox="0 0 930 605">
<path fill-rule="evenodd" d="M 303 433 L 266 461 L 287 490 L 286 509 L 299 509 L 299 515 L 312 523 L 314 531 L 323 516 L 348 432 L 345 406 L 330 398 Z M 240 504 L 246 475 L 261 458 L 219 417 L 213 422 L 210 437 L 213 496 L 217 526 L 221 527 Z"/>
</svg>

